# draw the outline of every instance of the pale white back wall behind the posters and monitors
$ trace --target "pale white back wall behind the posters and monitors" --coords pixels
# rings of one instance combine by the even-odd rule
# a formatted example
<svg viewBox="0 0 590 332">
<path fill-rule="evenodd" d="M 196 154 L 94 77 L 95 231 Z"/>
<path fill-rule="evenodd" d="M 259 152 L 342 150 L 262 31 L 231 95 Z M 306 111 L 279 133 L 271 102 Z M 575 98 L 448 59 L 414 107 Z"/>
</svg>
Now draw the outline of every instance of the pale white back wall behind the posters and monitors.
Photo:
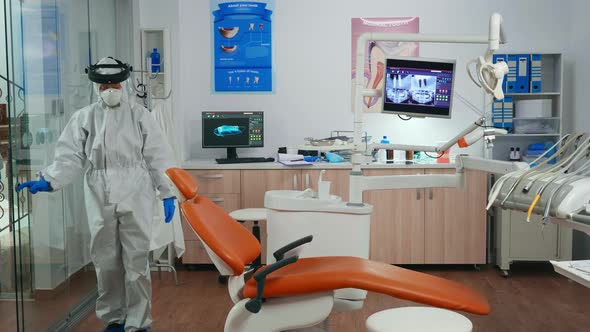
<svg viewBox="0 0 590 332">
<path fill-rule="evenodd" d="M 352 129 L 350 112 L 350 19 L 419 16 L 424 33 L 486 34 L 488 19 L 504 16 L 509 44 L 503 52 L 564 52 L 570 46 L 571 3 L 540 1 L 277 0 L 273 15 L 275 92 L 265 95 L 212 94 L 209 1 L 140 1 L 142 26 L 167 26 L 173 36 L 174 112 L 186 159 L 222 156 L 201 149 L 202 110 L 265 111 L 265 148 L 242 149 L 240 155 L 274 155 L 304 137 L 326 137 L 334 129 Z M 176 33 L 175 33 L 176 32 Z M 550 41 L 550 42 L 548 42 Z M 479 92 L 464 71 L 465 62 L 484 46 L 422 44 L 421 56 L 456 58 L 457 91 L 483 107 Z M 565 56 L 568 61 L 568 55 Z M 365 129 L 394 142 L 433 143 L 450 138 L 476 119 L 461 102 L 452 120 L 412 120 L 381 114 L 366 116 Z M 471 149 L 481 153 L 481 147 Z"/>
</svg>

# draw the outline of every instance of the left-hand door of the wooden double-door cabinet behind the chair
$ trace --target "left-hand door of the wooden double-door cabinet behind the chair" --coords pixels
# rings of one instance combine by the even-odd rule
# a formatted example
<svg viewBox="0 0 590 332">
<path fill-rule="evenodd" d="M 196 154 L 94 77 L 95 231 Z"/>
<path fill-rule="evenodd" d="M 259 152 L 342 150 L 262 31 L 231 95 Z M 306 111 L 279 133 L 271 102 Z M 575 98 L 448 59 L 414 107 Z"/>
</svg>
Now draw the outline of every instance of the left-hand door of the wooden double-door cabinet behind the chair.
<svg viewBox="0 0 590 332">
<path fill-rule="evenodd" d="M 365 175 L 423 172 L 423 169 L 387 169 L 368 170 Z M 424 189 L 368 191 L 363 200 L 373 205 L 370 258 L 390 264 L 423 264 Z"/>
</svg>

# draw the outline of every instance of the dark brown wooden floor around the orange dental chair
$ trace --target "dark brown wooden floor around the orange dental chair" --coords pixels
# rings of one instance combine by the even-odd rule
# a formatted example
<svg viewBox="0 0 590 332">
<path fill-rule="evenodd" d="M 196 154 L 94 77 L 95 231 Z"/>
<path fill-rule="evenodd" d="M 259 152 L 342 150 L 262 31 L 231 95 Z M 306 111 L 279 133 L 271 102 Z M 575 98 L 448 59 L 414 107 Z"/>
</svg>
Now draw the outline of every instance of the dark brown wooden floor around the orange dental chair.
<svg viewBox="0 0 590 332">
<path fill-rule="evenodd" d="M 466 314 L 474 331 L 590 331 L 590 289 L 554 273 L 550 265 L 515 265 L 503 278 L 493 266 L 476 272 L 469 266 L 411 267 L 458 281 L 480 290 L 492 306 L 489 316 Z M 211 270 L 179 271 L 175 287 L 169 273 L 153 275 L 152 332 L 223 331 L 231 301 L 224 285 Z M 415 303 L 369 293 L 363 310 L 330 316 L 331 331 L 365 331 L 374 312 Z M 76 331 L 100 331 L 103 325 L 91 315 Z M 261 331 L 263 332 L 263 331 Z"/>
</svg>

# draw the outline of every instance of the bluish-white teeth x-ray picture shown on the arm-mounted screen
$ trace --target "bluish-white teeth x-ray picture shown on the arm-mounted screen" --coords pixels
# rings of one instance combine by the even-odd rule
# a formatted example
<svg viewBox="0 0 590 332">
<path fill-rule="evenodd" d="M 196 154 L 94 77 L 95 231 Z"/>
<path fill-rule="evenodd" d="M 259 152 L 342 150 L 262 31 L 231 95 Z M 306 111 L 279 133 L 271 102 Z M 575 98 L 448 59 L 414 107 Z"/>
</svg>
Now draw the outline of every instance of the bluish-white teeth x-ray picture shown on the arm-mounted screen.
<svg viewBox="0 0 590 332">
<path fill-rule="evenodd" d="M 387 75 L 385 97 L 396 104 L 434 105 L 436 76 Z"/>
</svg>

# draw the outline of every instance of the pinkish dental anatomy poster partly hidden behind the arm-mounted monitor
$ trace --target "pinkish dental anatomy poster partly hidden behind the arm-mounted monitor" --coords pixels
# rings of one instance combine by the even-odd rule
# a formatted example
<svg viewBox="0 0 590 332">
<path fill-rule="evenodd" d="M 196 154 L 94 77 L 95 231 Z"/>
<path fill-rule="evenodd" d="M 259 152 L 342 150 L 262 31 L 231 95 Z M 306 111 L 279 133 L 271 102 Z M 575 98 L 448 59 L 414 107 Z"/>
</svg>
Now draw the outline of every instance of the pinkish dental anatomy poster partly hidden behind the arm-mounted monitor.
<svg viewBox="0 0 590 332">
<path fill-rule="evenodd" d="M 353 18 L 352 26 L 352 105 L 356 102 L 356 48 L 357 40 L 366 32 L 418 33 L 420 31 L 418 17 L 397 18 Z M 396 56 L 418 56 L 419 43 L 396 41 L 368 41 L 365 45 L 364 72 L 361 73 L 363 86 L 368 89 L 383 89 L 385 81 L 385 59 Z M 363 112 L 381 112 L 381 97 L 364 98 Z"/>
</svg>

